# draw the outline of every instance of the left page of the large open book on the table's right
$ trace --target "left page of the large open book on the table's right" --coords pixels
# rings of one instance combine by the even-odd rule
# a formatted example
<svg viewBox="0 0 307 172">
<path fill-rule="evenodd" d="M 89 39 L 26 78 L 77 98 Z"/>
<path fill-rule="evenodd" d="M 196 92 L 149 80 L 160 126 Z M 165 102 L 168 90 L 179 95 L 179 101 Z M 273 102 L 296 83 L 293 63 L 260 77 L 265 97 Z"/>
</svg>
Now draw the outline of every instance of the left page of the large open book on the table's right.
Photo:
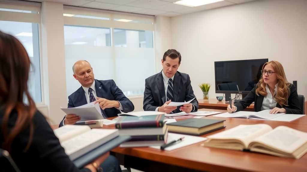
<svg viewBox="0 0 307 172">
<path fill-rule="evenodd" d="M 232 129 L 227 129 L 226 131 L 213 134 L 208 136 L 209 139 L 221 139 L 221 140 L 230 140 L 236 139 L 244 143 L 245 148 L 248 144 L 258 136 L 261 136 L 264 133 L 272 130 L 270 125 L 266 124 L 255 124 L 255 125 L 239 125 Z"/>
</svg>

